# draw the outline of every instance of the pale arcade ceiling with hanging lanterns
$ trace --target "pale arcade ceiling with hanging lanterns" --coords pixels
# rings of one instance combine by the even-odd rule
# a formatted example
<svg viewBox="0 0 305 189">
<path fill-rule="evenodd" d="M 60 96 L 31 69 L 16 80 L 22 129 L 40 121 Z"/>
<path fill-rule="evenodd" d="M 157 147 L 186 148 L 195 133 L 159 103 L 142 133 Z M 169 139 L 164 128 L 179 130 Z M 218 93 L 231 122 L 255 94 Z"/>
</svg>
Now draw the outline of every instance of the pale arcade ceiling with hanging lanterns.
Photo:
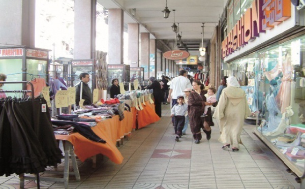
<svg viewBox="0 0 305 189">
<path fill-rule="evenodd" d="M 211 39 L 215 27 L 223 13 L 227 0 L 168 0 L 171 11 L 169 18 L 163 17 L 166 0 L 97 0 L 106 9 L 123 9 L 124 23 L 139 23 L 140 32 L 150 33 L 150 39 L 162 40 L 169 48 L 175 49 L 175 33 L 171 26 L 179 23 L 181 41 L 185 44 L 177 49 L 188 50 L 191 55 L 199 56 L 204 23 L 204 46 Z"/>
</svg>

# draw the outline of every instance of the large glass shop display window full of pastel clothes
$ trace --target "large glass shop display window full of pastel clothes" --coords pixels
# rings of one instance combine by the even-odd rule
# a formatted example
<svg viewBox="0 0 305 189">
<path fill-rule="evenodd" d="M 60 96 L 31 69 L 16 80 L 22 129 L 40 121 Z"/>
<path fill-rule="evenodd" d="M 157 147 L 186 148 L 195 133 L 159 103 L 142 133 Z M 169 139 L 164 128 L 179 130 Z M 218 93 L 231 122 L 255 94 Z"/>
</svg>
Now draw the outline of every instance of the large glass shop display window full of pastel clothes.
<svg viewBox="0 0 305 189">
<path fill-rule="evenodd" d="M 255 133 L 301 176 L 305 171 L 305 36 L 230 62 L 246 91 Z"/>
</svg>

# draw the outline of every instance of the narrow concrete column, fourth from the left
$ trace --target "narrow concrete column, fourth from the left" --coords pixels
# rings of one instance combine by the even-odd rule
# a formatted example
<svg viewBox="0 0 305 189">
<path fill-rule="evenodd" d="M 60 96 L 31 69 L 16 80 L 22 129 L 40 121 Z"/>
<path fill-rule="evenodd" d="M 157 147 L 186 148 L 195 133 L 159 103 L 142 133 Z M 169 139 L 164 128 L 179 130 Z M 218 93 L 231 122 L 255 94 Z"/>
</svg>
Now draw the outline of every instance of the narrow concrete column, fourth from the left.
<svg viewBox="0 0 305 189">
<path fill-rule="evenodd" d="M 139 38 L 140 28 L 138 23 L 128 24 L 128 64 L 131 68 L 139 67 Z"/>
</svg>

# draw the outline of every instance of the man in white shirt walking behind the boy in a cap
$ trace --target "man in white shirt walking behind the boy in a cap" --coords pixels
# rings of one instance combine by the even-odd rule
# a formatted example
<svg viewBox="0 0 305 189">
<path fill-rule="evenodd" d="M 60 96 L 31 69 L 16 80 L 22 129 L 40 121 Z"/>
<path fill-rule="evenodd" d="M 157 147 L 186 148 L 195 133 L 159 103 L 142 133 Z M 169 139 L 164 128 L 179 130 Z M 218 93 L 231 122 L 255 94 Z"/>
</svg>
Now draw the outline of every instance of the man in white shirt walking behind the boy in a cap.
<svg viewBox="0 0 305 189">
<path fill-rule="evenodd" d="M 180 70 L 179 76 L 175 77 L 171 81 L 170 89 L 168 92 L 168 98 L 167 102 L 170 102 L 170 99 L 172 98 L 172 107 L 177 104 L 177 97 L 178 96 L 184 96 L 185 92 L 184 90 L 186 88 L 192 88 L 192 83 L 187 78 L 188 72 L 186 70 Z"/>
</svg>

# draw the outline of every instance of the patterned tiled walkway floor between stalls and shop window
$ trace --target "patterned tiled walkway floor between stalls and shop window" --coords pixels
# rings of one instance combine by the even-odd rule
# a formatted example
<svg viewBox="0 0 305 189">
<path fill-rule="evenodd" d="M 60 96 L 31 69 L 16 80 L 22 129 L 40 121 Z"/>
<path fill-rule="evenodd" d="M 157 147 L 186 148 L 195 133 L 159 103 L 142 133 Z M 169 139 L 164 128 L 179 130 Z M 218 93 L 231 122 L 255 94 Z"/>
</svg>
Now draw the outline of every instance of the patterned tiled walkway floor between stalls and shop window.
<svg viewBox="0 0 305 189">
<path fill-rule="evenodd" d="M 70 176 L 69 188 L 299 188 L 287 167 L 245 123 L 237 152 L 221 149 L 217 122 L 209 141 L 195 144 L 190 130 L 174 141 L 169 105 L 163 105 L 159 122 L 134 131 L 119 147 L 124 156 L 120 165 L 107 157 L 96 168 L 90 160 L 78 161 L 81 181 Z M 63 165 L 58 170 L 63 170 Z M 72 166 L 71 166 L 72 167 Z M 0 177 L 0 188 L 19 188 L 18 176 Z M 36 188 L 27 181 L 25 188 Z M 64 188 L 60 182 L 41 182 L 41 188 Z"/>
</svg>

